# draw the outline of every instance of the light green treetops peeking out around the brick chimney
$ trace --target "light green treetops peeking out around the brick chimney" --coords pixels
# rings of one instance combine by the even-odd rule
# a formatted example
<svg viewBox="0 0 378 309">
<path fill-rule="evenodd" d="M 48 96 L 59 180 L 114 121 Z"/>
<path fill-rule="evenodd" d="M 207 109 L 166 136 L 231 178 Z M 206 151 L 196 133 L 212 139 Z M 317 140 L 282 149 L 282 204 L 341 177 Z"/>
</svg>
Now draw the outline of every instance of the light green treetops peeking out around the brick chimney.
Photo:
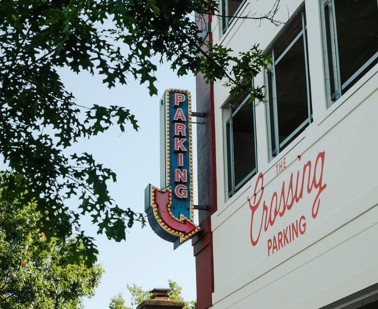
<svg viewBox="0 0 378 309">
<path fill-rule="evenodd" d="M 175 301 L 184 301 L 185 305 L 183 309 L 195 309 L 196 301 L 185 301 L 181 296 L 181 286 L 177 285 L 175 281 L 168 280 L 169 287 L 171 288 L 171 292 L 169 293 L 169 299 Z M 141 302 L 152 299 L 153 294 L 149 291 L 145 291 L 142 287 L 137 286 L 136 284 L 127 285 L 128 290 L 131 294 L 131 306 L 137 307 Z M 131 309 L 130 307 L 124 306 L 124 299 L 122 294 L 119 293 L 118 295 L 114 296 L 111 299 L 109 304 L 110 309 Z"/>
</svg>

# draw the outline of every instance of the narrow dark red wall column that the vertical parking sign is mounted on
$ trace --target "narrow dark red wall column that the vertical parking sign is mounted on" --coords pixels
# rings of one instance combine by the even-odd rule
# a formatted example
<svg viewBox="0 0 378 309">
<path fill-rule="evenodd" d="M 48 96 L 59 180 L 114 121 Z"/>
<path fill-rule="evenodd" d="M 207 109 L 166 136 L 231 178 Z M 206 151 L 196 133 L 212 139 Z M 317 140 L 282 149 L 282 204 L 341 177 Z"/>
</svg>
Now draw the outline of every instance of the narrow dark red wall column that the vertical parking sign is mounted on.
<svg viewBox="0 0 378 309">
<path fill-rule="evenodd" d="M 205 20 L 198 18 L 199 29 L 206 29 L 211 23 L 211 16 Z M 206 34 L 212 40 L 212 33 Z M 204 113 L 197 118 L 197 163 L 198 203 L 205 210 L 198 211 L 201 232 L 193 237 L 192 245 L 196 257 L 197 308 L 208 308 L 212 304 L 211 294 L 214 292 L 213 238 L 211 232 L 211 215 L 217 210 L 217 182 L 215 164 L 215 127 L 214 127 L 214 91 L 213 86 L 205 83 L 201 74 L 196 76 L 196 110 Z"/>
</svg>

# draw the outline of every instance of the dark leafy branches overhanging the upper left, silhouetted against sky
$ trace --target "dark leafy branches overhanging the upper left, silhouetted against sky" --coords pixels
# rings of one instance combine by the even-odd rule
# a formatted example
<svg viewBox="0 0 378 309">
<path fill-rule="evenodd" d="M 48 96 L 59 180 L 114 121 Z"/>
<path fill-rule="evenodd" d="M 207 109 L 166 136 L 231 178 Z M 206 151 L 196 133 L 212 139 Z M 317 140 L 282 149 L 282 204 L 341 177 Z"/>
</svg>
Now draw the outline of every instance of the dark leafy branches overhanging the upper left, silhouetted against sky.
<svg viewBox="0 0 378 309">
<path fill-rule="evenodd" d="M 239 56 L 225 61 L 224 52 L 232 51 L 206 44 L 190 15 L 216 14 L 217 8 L 216 0 L 2 0 L 0 155 L 12 174 L 3 172 L 0 202 L 36 201 L 41 213 L 49 213 L 40 219 L 46 236 L 75 232 L 88 265 L 98 252 L 81 229 L 81 216 L 90 215 L 98 233 L 116 241 L 125 239 L 125 229 L 135 221 L 144 225 L 142 214 L 111 199 L 112 170 L 91 154 L 70 152 L 80 139 L 113 125 L 121 132 L 126 123 L 138 130 L 137 120 L 125 106 L 80 105 L 59 68 L 99 75 L 109 88 L 135 78 L 153 95 L 157 65 L 170 61 L 178 75 L 202 72 L 208 82 L 226 78 L 232 89 L 255 96 L 249 76 L 230 69 Z M 261 51 L 240 56 L 240 69 L 253 67 L 254 57 L 258 65 L 265 61 Z M 77 203 L 68 208 L 71 197 Z"/>
</svg>

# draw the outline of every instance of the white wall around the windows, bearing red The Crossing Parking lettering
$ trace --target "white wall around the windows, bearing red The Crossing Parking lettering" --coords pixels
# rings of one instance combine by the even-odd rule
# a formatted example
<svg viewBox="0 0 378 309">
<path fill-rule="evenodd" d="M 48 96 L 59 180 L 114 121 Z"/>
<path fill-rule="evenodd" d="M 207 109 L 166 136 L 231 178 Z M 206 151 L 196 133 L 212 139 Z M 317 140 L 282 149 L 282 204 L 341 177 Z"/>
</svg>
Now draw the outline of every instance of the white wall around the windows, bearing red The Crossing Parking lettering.
<svg viewBox="0 0 378 309">
<path fill-rule="evenodd" d="M 273 4 L 246 1 L 239 14 L 258 16 Z M 312 121 L 272 156 L 268 103 L 256 102 L 258 172 L 231 197 L 225 150 L 228 89 L 221 82 L 213 85 L 214 308 L 318 308 L 378 282 L 378 65 L 331 102 L 324 1 L 281 0 L 275 19 L 291 20 L 301 6 Z M 223 34 L 221 18 L 213 18 L 212 35 L 235 53 L 254 43 L 269 51 L 284 27 L 238 19 Z M 266 85 L 266 76 L 259 74 L 255 85 Z"/>
</svg>

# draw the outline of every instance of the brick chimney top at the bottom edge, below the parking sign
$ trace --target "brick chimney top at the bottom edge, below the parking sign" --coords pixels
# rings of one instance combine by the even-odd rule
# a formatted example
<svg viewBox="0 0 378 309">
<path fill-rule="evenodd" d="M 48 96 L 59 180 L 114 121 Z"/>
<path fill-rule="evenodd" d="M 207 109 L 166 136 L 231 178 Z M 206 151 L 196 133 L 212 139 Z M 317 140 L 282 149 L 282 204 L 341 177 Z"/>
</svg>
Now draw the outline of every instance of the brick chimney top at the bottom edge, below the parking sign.
<svg viewBox="0 0 378 309">
<path fill-rule="evenodd" d="M 170 288 L 154 288 L 153 299 L 147 299 L 139 304 L 137 309 L 182 309 L 185 305 L 183 301 L 169 300 Z"/>
</svg>

